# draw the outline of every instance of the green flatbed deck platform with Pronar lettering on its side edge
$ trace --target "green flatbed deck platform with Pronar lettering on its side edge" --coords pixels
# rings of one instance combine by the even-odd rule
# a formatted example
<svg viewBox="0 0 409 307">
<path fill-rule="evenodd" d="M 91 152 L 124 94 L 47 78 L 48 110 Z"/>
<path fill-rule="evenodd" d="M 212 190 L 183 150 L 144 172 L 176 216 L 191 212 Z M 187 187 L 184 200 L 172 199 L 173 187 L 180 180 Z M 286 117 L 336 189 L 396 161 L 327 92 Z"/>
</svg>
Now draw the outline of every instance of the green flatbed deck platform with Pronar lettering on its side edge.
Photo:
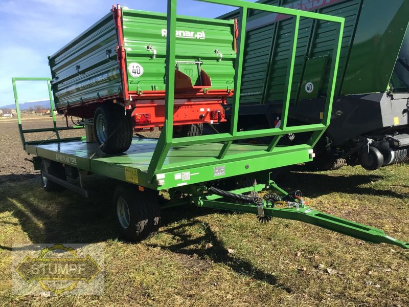
<svg viewBox="0 0 409 307">
<path fill-rule="evenodd" d="M 143 187 L 163 190 L 172 187 L 200 183 L 252 173 L 269 168 L 288 165 L 288 161 L 307 162 L 312 160 L 312 149 L 303 145 L 277 146 L 265 156 L 267 146 L 232 144 L 222 161 L 216 157 L 222 143 L 185 145 L 170 147 L 160 173 L 155 181 L 148 178 L 147 171 L 158 139 L 133 138 L 131 147 L 122 155 L 107 155 L 97 143 L 84 140 L 61 141 L 26 145 L 26 151 L 37 157 L 64 163 L 93 173 L 138 184 Z M 260 151 L 261 158 L 240 160 L 248 152 Z M 217 164 L 206 165 L 217 160 Z M 194 170 L 194 171 L 193 171 Z"/>
</svg>

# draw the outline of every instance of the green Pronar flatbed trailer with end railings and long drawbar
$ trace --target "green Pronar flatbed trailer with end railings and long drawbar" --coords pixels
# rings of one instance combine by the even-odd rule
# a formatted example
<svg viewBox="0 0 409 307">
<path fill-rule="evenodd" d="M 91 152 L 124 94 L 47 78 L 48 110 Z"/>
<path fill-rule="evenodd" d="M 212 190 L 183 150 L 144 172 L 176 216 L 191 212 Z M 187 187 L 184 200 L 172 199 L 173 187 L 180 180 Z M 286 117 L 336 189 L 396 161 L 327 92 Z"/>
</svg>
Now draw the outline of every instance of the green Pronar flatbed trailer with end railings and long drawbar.
<svg viewBox="0 0 409 307">
<path fill-rule="evenodd" d="M 166 67 L 165 124 L 160 137 L 158 139 L 134 137 L 129 150 L 121 155 L 108 155 L 100 150 L 97 143 L 90 142 L 85 138 L 60 138 L 59 131 L 66 129 L 66 127 L 57 127 L 54 116 L 54 127 L 52 128 L 24 129 L 19 113 L 16 83 L 24 80 L 46 81 L 49 85 L 51 106 L 54 107 L 51 79 L 13 78 L 21 141 L 25 150 L 34 155 L 32 162 L 35 169 L 40 169 L 44 189 L 55 191 L 65 187 L 84 196 L 89 196 L 89 191 L 83 185 L 84 176 L 95 173 L 118 180 L 113 205 L 116 208 L 119 229 L 128 240 L 138 241 L 156 233 L 160 226 L 161 209 L 190 204 L 199 207 L 254 213 L 257 214 L 260 222 L 268 222 L 271 217 L 303 221 L 370 242 L 388 243 L 409 249 L 409 243 L 385 235 L 379 229 L 344 220 L 306 206 L 300 191 L 287 193 L 282 190 L 271 180 L 271 172 L 266 170 L 267 168 L 312 161 L 314 157 L 312 147 L 328 127 L 331 116 L 344 19 L 239 0 L 202 1 L 240 7 L 241 41 L 245 39 L 248 9 L 291 15 L 294 19 L 294 29 L 299 27 L 301 17 L 326 20 L 328 23 L 336 24 L 338 34 L 334 41 L 333 58 L 330 64 L 331 81 L 329 82 L 322 121 L 318 124 L 289 126 L 283 120 L 281 125 L 274 129 L 238 131 L 237 119 L 244 55 L 242 44 L 239 44 L 237 48 L 233 102 L 235 116 L 228 133 L 217 136 L 173 138 L 175 74 L 173 67 L 168 66 Z M 168 1 L 166 27 L 168 33 L 172 33 L 176 29 L 176 0 Z M 287 117 L 289 106 L 298 31 L 293 31 L 291 35 L 293 36 L 294 48 L 288 64 L 288 81 L 285 86 L 288 95 L 282 110 L 283 118 Z M 177 45 L 175 36 L 168 36 L 166 42 L 166 61 L 174 62 L 175 46 Z M 54 131 L 56 138 L 26 141 L 25 134 L 42 131 Z M 278 145 L 281 137 L 289 133 L 306 131 L 312 132 L 311 139 L 306 143 Z M 273 140 L 265 146 L 233 143 L 235 140 L 249 139 L 254 136 L 273 137 Z M 79 177 L 80 186 L 67 181 L 67 176 Z M 230 191 L 221 189 L 223 184 L 232 186 L 236 178 L 240 177 L 251 178 L 251 180 L 247 180 L 244 187 L 236 186 Z M 157 191 L 159 190 L 167 190 L 170 195 L 170 200 L 162 206 L 157 198 Z M 269 191 L 263 199 L 258 195 L 258 192 L 262 190 Z"/>
</svg>

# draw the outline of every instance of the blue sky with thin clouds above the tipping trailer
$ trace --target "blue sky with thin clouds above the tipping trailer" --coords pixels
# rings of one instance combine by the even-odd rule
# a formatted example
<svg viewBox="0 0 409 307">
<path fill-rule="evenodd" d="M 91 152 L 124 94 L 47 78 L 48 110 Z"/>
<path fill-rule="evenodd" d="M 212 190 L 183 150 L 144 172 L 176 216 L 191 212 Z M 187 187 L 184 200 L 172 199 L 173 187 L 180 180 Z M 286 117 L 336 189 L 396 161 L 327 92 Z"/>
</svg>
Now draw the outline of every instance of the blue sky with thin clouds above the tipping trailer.
<svg viewBox="0 0 409 307">
<path fill-rule="evenodd" d="M 50 77 L 52 55 L 119 0 L 0 0 L 0 106 L 14 103 L 11 77 Z M 254 1 L 254 0 L 253 0 Z M 132 9 L 166 12 L 165 0 L 123 0 Z M 179 0 L 177 13 L 216 17 L 232 7 Z M 48 98 L 46 82 L 19 82 L 19 101 Z"/>
</svg>

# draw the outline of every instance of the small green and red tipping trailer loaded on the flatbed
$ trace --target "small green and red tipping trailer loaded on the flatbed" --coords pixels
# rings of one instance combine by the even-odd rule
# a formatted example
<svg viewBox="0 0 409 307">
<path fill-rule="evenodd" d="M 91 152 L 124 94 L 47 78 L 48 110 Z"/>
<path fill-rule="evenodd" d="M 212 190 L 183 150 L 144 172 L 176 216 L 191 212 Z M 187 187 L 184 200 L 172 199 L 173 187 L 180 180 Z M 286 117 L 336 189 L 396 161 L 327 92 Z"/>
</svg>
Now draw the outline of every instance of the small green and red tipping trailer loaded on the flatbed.
<svg viewBox="0 0 409 307">
<path fill-rule="evenodd" d="M 235 20 L 177 17 L 174 124 L 185 127 L 175 134 L 199 135 L 202 123 L 225 121 L 237 33 Z M 166 14 L 112 7 L 49 57 L 58 112 L 89 119 L 107 153 L 126 151 L 132 130 L 163 126 L 166 37 Z"/>
</svg>

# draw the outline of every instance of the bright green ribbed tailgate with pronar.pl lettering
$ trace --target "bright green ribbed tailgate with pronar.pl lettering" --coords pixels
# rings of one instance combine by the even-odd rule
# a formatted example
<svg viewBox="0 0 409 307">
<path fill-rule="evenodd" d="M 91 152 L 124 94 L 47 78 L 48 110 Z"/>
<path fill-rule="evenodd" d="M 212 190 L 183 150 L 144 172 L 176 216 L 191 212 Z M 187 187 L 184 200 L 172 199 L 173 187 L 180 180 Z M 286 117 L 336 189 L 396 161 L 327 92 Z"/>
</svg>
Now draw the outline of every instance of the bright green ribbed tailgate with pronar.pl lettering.
<svg viewBox="0 0 409 307">
<path fill-rule="evenodd" d="M 164 91 L 166 14 L 123 9 L 123 27 L 127 68 L 131 63 L 143 68 L 143 74 L 138 77 L 132 76 L 128 69 L 129 91 Z M 227 90 L 228 86 L 233 89 L 234 21 L 179 16 L 176 30 L 184 31 L 176 35 L 176 61 L 201 61 L 201 69 L 212 81 L 209 90 Z M 195 37 L 198 35 L 201 38 Z M 147 46 L 155 51 L 154 58 L 154 52 Z M 215 50 L 222 54 L 221 60 Z M 180 71 L 193 76 L 192 85 L 195 85 L 197 64 L 180 64 Z"/>
</svg>

